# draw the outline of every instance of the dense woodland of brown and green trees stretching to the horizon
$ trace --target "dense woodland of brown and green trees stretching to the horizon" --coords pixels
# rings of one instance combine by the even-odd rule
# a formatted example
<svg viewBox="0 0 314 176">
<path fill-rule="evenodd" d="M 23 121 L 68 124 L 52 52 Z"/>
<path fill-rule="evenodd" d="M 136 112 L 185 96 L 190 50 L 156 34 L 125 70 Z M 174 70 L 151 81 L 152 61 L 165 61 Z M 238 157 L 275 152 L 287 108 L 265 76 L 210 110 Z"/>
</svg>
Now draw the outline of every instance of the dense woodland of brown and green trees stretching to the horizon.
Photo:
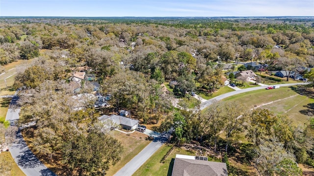
<svg viewBox="0 0 314 176">
<path fill-rule="evenodd" d="M 169 101 L 174 95 L 160 86 L 177 80 L 177 97 L 199 88 L 214 92 L 223 75 L 216 63 L 247 61 L 300 71 L 311 81 L 314 71 L 298 70 L 314 66 L 311 19 L 0 19 L 0 65 L 31 58 L 36 62 L 20 67 L 14 84 L 24 86 L 20 123 L 36 121 L 33 149 L 66 165 L 64 175 L 99 175 L 120 159 L 123 147 L 104 134 L 97 117 L 121 109 L 144 123 L 161 120 L 160 130 L 174 129 L 172 141 L 179 145 L 197 141 L 226 155 L 236 153 L 237 137 L 245 133 L 249 143 L 242 154 L 261 176 L 272 176 L 275 167 L 277 175 L 298 176 L 294 161 L 314 167 L 313 119 L 300 126 L 268 110 L 223 102 L 204 111 L 198 105 L 194 113 L 175 110 Z M 111 108 L 95 110 L 88 102 L 73 110 L 69 79 L 79 66 L 90 67 L 100 92 L 112 95 Z M 83 85 L 80 91 L 91 89 Z"/>
</svg>

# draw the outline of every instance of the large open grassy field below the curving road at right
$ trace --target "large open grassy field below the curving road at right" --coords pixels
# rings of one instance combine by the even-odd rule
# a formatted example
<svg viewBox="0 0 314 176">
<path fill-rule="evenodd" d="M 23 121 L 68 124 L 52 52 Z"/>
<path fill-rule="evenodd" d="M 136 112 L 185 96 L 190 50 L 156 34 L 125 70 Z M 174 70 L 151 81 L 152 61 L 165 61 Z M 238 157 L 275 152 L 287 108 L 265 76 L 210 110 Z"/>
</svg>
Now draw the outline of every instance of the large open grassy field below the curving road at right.
<svg viewBox="0 0 314 176">
<path fill-rule="evenodd" d="M 276 101 L 284 98 L 287 99 Z M 248 109 L 276 101 L 274 103 L 264 105 L 261 108 L 269 109 L 276 115 L 287 115 L 298 124 L 304 124 L 308 122 L 310 117 L 308 116 L 308 113 L 314 113 L 312 110 L 312 103 L 314 103 L 314 99 L 299 95 L 288 87 L 270 90 L 261 89 L 251 91 L 249 93 L 241 93 L 228 97 L 224 99 L 224 101 L 242 102 L 246 107 L 248 107 Z"/>
</svg>

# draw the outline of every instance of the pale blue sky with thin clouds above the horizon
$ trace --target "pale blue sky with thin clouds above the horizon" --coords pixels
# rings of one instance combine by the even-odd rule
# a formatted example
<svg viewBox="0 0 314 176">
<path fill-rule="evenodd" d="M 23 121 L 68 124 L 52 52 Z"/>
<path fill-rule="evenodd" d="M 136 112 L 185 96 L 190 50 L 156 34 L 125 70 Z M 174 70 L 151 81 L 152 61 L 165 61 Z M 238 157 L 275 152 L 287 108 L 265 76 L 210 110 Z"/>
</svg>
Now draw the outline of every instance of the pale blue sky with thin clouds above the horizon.
<svg viewBox="0 0 314 176">
<path fill-rule="evenodd" d="M 314 0 L 0 0 L 0 16 L 314 16 Z"/>
</svg>

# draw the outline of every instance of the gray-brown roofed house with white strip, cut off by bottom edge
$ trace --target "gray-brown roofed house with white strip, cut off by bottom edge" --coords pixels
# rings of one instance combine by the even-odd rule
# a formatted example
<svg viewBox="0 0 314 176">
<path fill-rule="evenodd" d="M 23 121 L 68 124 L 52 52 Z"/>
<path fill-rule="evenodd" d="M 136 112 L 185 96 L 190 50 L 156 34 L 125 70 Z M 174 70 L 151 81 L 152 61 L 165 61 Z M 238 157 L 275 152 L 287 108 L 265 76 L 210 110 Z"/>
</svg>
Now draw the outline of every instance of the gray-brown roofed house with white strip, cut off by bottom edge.
<svg viewBox="0 0 314 176">
<path fill-rule="evenodd" d="M 228 176 L 227 165 L 197 159 L 197 156 L 177 154 L 172 176 Z"/>
</svg>

